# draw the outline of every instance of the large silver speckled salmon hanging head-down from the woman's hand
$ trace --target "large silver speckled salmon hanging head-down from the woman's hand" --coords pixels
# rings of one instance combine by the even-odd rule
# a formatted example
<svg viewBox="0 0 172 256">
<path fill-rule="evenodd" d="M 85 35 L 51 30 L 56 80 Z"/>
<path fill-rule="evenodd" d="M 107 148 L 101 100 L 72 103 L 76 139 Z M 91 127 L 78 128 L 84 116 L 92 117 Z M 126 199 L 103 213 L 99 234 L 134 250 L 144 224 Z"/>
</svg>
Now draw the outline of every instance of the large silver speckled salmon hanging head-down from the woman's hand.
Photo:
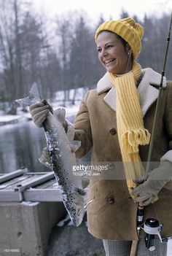
<svg viewBox="0 0 172 256">
<path fill-rule="evenodd" d="M 30 106 L 41 101 L 38 86 L 34 83 L 27 98 L 15 100 L 19 104 Z M 77 166 L 74 151 L 79 148 L 80 141 L 69 141 L 63 128 L 65 120 L 65 109 L 58 109 L 53 115 L 51 112 L 43 123 L 44 133 L 47 140 L 47 150 L 50 155 L 50 163 L 47 165 L 54 171 L 57 179 L 60 194 L 67 212 L 74 226 L 79 226 L 82 222 L 84 210 L 84 190 L 82 179 L 74 177 L 72 174 L 73 166 Z M 44 150 L 46 159 L 46 150 Z M 42 159 L 42 158 L 41 158 Z M 45 160 L 46 162 L 46 160 Z"/>
</svg>

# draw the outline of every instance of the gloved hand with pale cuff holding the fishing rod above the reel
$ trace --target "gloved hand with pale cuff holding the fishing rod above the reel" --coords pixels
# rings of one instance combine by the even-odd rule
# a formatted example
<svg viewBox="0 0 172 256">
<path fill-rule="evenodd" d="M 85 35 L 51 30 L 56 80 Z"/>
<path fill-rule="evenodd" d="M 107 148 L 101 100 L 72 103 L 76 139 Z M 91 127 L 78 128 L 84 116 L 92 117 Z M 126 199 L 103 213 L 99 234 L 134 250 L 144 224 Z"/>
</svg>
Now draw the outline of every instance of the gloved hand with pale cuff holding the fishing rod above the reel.
<svg viewBox="0 0 172 256">
<path fill-rule="evenodd" d="M 164 160 L 160 162 L 158 168 L 149 172 L 145 182 L 141 179 L 134 180 L 138 187 L 134 188 L 132 191 L 132 195 L 136 196 L 133 201 L 135 203 L 143 202 L 144 206 L 153 203 L 165 183 L 169 182 L 171 179 L 172 163 L 168 160 Z"/>
</svg>

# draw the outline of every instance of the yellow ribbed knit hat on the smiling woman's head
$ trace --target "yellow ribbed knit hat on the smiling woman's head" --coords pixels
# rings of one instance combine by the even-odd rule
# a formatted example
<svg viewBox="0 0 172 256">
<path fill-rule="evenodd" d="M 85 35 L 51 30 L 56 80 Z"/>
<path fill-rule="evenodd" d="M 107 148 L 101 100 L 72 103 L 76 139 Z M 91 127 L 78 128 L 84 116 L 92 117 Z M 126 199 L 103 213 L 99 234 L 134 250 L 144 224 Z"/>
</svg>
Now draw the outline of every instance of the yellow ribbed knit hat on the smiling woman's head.
<svg viewBox="0 0 172 256">
<path fill-rule="evenodd" d="M 125 39 L 133 51 L 133 58 L 138 57 L 141 51 L 141 38 L 144 34 L 144 28 L 136 23 L 133 18 L 109 20 L 102 23 L 95 31 L 95 42 L 97 42 L 98 34 L 103 30 L 112 31 Z"/>
</svg>

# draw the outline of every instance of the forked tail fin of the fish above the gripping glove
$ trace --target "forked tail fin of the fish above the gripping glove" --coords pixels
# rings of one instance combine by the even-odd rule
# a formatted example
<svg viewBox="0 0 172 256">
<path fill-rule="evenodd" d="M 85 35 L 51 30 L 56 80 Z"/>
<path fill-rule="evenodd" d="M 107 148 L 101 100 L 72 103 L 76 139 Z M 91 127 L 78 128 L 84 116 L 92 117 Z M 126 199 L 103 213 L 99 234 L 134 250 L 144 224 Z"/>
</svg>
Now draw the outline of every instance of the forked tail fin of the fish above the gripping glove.
<svg viewBox="0 0 172 256">
<path fill-rule="evenodd" d="M 31 90 L 29 91 L 28 97 L 16 99 L 15 102 L 19 103 L 20 105 L 31 106 L 31 104 L 36 104 L 37 102 L 41 101 L 41 99 L 42 97 L 39 93 L 38 85 L 36 82 L 34 82 Z"/>
</svg>

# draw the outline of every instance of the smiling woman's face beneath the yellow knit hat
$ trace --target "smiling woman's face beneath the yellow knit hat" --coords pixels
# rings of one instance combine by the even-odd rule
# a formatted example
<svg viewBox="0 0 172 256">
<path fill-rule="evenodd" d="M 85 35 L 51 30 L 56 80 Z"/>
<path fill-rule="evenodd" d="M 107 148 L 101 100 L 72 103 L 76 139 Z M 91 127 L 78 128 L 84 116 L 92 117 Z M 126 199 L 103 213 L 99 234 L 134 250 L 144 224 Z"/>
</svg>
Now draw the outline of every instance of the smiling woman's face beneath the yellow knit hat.
<svg viewBox="0 0 172 256">
<path fill-rule="evenodd" d="M 126 47 L 120 39 L 111 32 L 103 31 L 98 34 L 97 39 L 98 59 L 112 74 L 125 74 L 132 69 L 131 50 Z M 128 54 L 130 53 L 130 54 Z"/>
</svg>

